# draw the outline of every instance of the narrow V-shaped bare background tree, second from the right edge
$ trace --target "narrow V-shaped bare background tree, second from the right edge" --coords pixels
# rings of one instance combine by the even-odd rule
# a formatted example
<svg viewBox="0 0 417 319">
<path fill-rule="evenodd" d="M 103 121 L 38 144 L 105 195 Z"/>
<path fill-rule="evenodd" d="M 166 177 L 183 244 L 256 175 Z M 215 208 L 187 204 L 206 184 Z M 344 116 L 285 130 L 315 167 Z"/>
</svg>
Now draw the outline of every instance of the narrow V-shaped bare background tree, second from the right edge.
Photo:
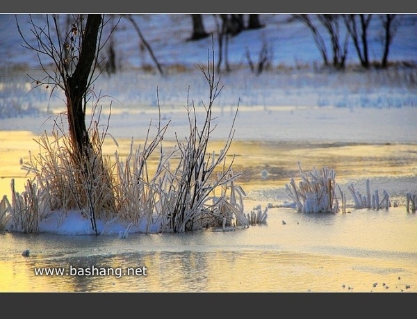
<svg viewBox="0 0 417 319">
<path fill-rule="evenodd" d="M 359 61 L 363 67 L 370 66 L 368 54 L 368 27 L 372 17 L 373 15 L 371 14 L 343 15 L 345 26 L 350 34 L 350 38 L 352 38 L 354 47 L 359 57 Z M 360 28 L 360 30 L 358 30 L 358 28 Z"/>
</svg>

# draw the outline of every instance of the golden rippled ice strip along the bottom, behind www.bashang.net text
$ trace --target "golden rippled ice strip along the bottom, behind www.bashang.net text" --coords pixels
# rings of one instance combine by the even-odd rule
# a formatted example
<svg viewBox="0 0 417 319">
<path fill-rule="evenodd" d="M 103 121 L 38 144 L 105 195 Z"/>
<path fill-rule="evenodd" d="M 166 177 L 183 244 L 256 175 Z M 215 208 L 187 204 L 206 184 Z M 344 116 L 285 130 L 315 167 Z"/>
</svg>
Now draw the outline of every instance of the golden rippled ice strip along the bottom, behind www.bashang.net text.
<svg viewBox="0 0 417 319">
<path fill-rule="evenodd" d="M 414 292 L 416 267 L 400 261 L 279 251 L 145 252 L 143 276 L 37 276 L 38 261 L 0 261 L 2 292 Z M 92 258 L 120 267 L 120 257 Z M 106 265 L 105 265 L 106 264 Z M 52 263 L 49 267 L 69 267 Z"/>
</svg>

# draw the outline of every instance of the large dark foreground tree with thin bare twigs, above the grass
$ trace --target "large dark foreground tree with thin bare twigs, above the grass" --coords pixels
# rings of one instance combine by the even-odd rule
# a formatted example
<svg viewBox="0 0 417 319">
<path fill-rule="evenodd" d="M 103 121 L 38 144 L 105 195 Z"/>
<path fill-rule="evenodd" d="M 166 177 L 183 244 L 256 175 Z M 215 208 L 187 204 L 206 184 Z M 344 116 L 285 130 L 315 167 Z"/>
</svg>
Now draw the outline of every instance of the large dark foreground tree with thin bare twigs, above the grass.
<svg viewBox="0 0 417 319">
<path fill-rule="evenodd" d="M 79 15 L 72 23 L 72 28 L 65 37 L 61 37 L 58 27 L 58 16 L 47 15 L 47 28 L 44 29 L 33 22 L 30 17 L 30 24 L 33 27 L 38 46 L 35 47 L 26 40 L 19 23 L 17 27 L 24 43 L 24 47 L 36 51 L 40 65 L 47 76 L 43 80 L 33 79 L 37 85 L 55 85 L 63 89 L 67 99 L 67 117 L 70 126 L 70 136 L 76 154 L 81 156 L 90 148 L 90 140 L 85 125 L 85 103 L 88 89 L 94 81 L 94 72 L 97 69 L 97 44 L 99 44 L 102 15 Z M 53 24 L 53 26 L 51 26 Z M 51 34 L 52 29 L 56 33 L 56 39 Z M 49 71 L 44 67 L 40 56 L 51 58 L 56 69 Z"/>
</svg>

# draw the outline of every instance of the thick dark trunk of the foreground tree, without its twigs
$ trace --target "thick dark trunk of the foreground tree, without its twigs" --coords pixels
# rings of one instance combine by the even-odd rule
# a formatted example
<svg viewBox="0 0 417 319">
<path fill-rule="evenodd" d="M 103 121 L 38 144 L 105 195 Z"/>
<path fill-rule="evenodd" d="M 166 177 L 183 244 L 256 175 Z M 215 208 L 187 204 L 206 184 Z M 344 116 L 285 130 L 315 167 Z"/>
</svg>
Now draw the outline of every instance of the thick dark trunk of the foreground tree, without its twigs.
<svg viewBox="0 0 417 319">
<path fill-rule="evenodd" d="M 88 15 L 83 35 L 82 49 L 79 61 L 72 76 L 66 84 L 68 122 L 70 137 L 74 152 L 81 158 L 88 154 L 90 138 L 85 126 L 85 93 L 88 88 L 88 78 L 97 52 L 97 38 L 101 25 L 101 15 Z"/>
</svg>

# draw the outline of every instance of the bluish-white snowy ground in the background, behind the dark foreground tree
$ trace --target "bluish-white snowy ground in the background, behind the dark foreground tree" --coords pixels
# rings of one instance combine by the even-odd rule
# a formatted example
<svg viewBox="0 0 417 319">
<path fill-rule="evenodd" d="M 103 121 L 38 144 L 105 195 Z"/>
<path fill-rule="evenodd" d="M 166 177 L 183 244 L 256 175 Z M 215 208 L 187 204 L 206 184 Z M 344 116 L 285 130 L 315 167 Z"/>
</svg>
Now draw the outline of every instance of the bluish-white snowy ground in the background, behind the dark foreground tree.
<svg viewBox="0 0 417 319">
<path fill-rule="evenodd" d="M 0 128 L 40 133 L 48 129 L 44 124 L 47 116 L 35 113 L 65 111 L 63 94 L 52 92 L 51 87 L 33 89 L 26 74 L 35 78 L 43 74 L 34 52 L 22 47 L 16 18 L 24 35 L 33 40 L 28 15 L 0 15 Z M 44 15 L 33 18 L 42 25 Z M 104 112 L 112 103 L 110 131 L 114 136 L 140 138 L 146 132 L 142 128 L 156 116 L 158 104 L 163 119 L 171 120 L 171 132 L 186 128 L 187 100 L 201 106 L 208 99 L 208 85 L 198 65 L 206 67 L 212 58 L 211 38 L 187 41 L 192 31 L 189 15 L 136 15 L 135 19 L 158 62 L 166 69 L 176 65 L 177 71 L 170 67 L 167 75 L 161 76 L 155 68 L 154 72 L 140 70 L 144 65 L 154 66 L 152 58 L 143 47 L 139 49 L 138 34 L 122 18 L 114 36 L 116 60 L 122 71 L 111 77 L 103 74 L 95 83 L 96 93 L 108 96 L 102 99 Z M 417 15 L 399 15 L 397 19 L 389 60 L 398 67 L 366 71 L 356 67 L 358 58 L 350 43 L 348 67 L 336 72 L 320 67 L 320 52 L 304 24 L 291 15 L 261 15 L 264 28 L 243 31 L 229 40 L 228 59 L 234 70 L 218 74 L 224 85 L 215 101 L 218 135 L 224 136 L 224 130 L 229 129 L 222 122 L 230 122 L 229 115 L 239 104 L 236 138 L 413 141 Z M 215 32 L 213 15 L 204 15 L 203 21 L 207 32 Z M 381 22 L 377 15 L 371 21 L 370 59 L 379 60 Z M 270 47 L 272 70 L 256 75 L 250 72 L 246 53 L 250 52 L 256 62 L 263 44 Z M 216 46 L 215 40 L 214 49 Z M 327 50 L 330 55 L 329 43 Z M 412 66 L 405 67 L 402 62 Z M 16 65 L 29 69 L 11 71 Z"/>
</svg>

